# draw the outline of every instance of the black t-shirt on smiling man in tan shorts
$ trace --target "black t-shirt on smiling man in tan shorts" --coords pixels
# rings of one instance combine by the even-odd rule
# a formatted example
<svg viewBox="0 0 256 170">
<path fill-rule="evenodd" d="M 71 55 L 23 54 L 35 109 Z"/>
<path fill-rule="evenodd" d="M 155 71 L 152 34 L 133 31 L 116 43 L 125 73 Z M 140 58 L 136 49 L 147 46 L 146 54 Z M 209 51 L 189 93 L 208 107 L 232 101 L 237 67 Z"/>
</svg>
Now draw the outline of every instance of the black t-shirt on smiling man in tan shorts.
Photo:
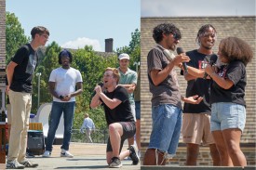
<svg viewBox="0 0 256 170">
<path fill-rule="evenodd" d="M 209 63 L 210 60 L 212 60 L 212 62 L 215 62 L 217 60 L 217 56 L 215 54 L 205 55 L 199 53 L 196 49 L 187 52 L 186 55 L 191 59 L 187 63 L 187 65 L 200 70 L 204 69 L 206 66 L 205 63 Z M 203 97 L 204 99 L 199 104 L 184 103 L 184 113 L 210 113 L 210 82 L 211 81 L 209 79 L 203 78 L 196 78 L 187 82 L 186 97 L 198 95 L 199 97 Z"/>
</svg>

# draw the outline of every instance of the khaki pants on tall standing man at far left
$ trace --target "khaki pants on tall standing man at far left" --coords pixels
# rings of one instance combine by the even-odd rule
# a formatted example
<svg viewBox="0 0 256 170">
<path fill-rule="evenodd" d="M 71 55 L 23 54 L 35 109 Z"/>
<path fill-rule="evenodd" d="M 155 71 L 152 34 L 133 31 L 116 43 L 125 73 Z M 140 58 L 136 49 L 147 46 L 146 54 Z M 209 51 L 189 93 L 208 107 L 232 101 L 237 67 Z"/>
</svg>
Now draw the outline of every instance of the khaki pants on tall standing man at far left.
<svg viewBox="0 0 256 170">
<path fill-rule="evenodd" d="M 8 92 L 11 104 L 11 130 L 7 161 L 25 160 L 32 96 L 30 93 Z"/>
</svg>

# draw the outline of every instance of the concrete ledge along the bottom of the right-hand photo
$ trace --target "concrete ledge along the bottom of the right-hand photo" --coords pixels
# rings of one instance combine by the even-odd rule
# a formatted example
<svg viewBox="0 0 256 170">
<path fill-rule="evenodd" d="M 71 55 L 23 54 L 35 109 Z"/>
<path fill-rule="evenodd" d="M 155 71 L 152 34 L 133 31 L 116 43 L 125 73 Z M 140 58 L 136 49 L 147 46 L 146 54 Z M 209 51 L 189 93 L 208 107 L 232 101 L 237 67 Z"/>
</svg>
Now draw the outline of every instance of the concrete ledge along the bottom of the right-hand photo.
<svg viewBox="0 0 256 170">
<path fill-rule="evenodd" d="M 141 165 L 141 170 L 157 170 L 157 169 L 171 169 L 171 170 L 255 170 L 255 166 L 242 167 L 227 167 L 227 166 L 145 166 Z"/>
</svg>

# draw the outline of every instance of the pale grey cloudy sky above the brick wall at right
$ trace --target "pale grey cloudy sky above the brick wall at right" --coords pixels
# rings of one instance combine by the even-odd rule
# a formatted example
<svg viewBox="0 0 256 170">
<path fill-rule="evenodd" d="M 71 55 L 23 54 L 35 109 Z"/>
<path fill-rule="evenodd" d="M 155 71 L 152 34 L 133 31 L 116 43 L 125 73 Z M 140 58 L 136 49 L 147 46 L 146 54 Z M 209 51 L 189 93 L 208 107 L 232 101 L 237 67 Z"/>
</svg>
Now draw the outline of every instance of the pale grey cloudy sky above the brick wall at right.
<svg viewBox="0 0 256 170">
<path fill-rule="evenodd" d="M 141 17 L 255 16 L 255 0 L 141 0 Z"/>
</svg>

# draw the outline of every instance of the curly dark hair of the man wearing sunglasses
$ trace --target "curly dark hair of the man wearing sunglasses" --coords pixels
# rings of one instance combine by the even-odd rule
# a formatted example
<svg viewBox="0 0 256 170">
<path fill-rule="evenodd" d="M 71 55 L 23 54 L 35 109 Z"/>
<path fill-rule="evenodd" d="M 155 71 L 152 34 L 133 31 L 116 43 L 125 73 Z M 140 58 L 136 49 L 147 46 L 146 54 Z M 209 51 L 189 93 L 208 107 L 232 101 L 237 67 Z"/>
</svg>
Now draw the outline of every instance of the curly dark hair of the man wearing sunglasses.
<svg viewBox="0 0 256 170">
<path fill-rule="evenodd" d="M 153 38 L 155 43 L 159 43 L 163 40 L 163 33 L 166 35 L 172 33 L 175 34 L 177 39 L 182 39 L 182 33 L 180 30 L 172 23 L 161 23 L 157 25 L 153 30 Z"/>
</svg>

